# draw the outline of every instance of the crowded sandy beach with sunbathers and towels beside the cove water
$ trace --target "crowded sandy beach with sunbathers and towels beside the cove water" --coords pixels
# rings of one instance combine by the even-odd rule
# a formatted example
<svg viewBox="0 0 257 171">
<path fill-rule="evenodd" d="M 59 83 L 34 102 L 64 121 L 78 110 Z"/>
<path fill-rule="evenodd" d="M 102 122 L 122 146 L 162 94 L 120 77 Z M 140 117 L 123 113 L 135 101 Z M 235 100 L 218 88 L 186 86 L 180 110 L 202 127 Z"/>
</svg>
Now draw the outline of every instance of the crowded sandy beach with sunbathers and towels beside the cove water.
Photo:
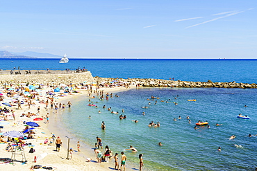
<svg viewBox="0 0 257 171">
<path fill-rule="evenodd" d="M 50 99 L 53 98 L 54 102 L 58 102 L 58 104 L 65 104 L 65 109 L 67 108 L 67 102 L 71 101 L 73 98 L 76 98 L 78 96 L 85 96 L 88 97 L 88 91 L 86 89 L 77 89 L 76 92 L 78 93 L 63 93 L 63 90 L 61 89 L 60 92 L 54 93 L 54 87 L 49 87 L 47 85 L 41 84 L 40 91 L 35 91 L 31 89 L 27 89 L 30 96 L 33 96 L 33 98 L 25 97 L 26 93 L 25 90 L 19 90 L 16 92 L 15 90 L 17 87 L 20 87 L 20 85 L 8 85 L 4 89 L 2 86 L 0 89 L 0 92 L 3 94 L 3 100 L 1 101 L 1 109 L 6 107 L 6 109 L 9 109 L 9 113 L 2 112 L 3 117 L 0 119 L 0 125 L 3 126 L 3 129 L 1 129 L 1 134 L 8 131 L 20 131 L 22 132 L 25 129 L 25 123 L 24 122 L 35 122 L 40 125 L 40 127 L 35 127 L 33 129 L 33 138 L 32 139 L 26 139 L 23 140 L 25 144 L 24 145 L 24 154 L 26 156 L 26 159 L 22 159 L 21 154 L 17 154 L 15 156 L 15 161 L 8 162 L 9 159 L 11 159 L 12 152 L 6 151 L 6 146 L 8 143 L 15 144 L 15 143 L 0 143 L 0 159 L 7 159 L 7 162 L 2 162 L 0 164 L 1 170 L 30 170 L 33 168 L 34 165 L 42 165 L 46 167 L 51 167 L 53 170 L 114 170 L 114 159 L 111 159 L 109 163 L 102 162 L 97 163 L 97 159 L 95 158 L 94 151 L 92 150 L 92 147 L 88 147 L 86 145 L 83 145 L 81 143 L 81 152 L 77 152 L 76 142 L 79 140 L 76 140 L 75 138 L 71 139 L 71 143 L 69 147 L 72 147 L 74 152 L 72 154 L 72 159 L 67 159 L 67 142 L 68 138 L 70 137 L 68 132 L 65 132 L 65 129 L 63 128 L 63 125 L 60 121 L 60 114 L 62 112 L 62 109 L 58 108 L 50 109 Z M 25 85 L 23 87 L 26 87 Z M 12 90 L 12 88 L 14 90 Z M 95 87 L 94 87 L 95 88 Z M 135 88 L 134 86 L 130 87 L 130 89 Z M 105 93 L 108 92 L 114 92 L 114 91 L 124 91 L 127 90 L 125 87 L 114 87 L 114 88 L 102 88 L 99 90 L 103 90 Z M 19 93 L 23 92 L 23 96 L 19 96 Z M 51 93 L 50 93 L 51 92 Z M 10 94 L 13 97 L 8 97 L 7 94 Z M 49 93 L 51 95 L 49 95 Z M 15 100 L 16 99 L 16 100 Z M 32 104 L 30 106 L 30 109 L 28 107 L 27 100 L 31 100 Z M 21 108 L 18 107 L 17 100 L 22 102 Z M 42 102 L 44 100 L 44 102 Z M 49 105 L 47 108 L 45 102 L 49 100 Z M 9 107 L 7 105 L 3 105 L 3 102 L 11 102 L 9 104 L 13 105 L 12 107 Z M 38 112 L 38 107 L 40 107 L 40 112 Z M 19 108 L 19 109 L 18 109 Z M 13 110 L 13 111 L 11 111 Z M 34 116 L 30 116 L 29 118 L 26 117 L 26 114 L 28 112 L 31 112 L 31 114 L 34 114 Z M 13 118 L 13 113 L 15 114 L 15 120 Z M 47 123 L 47 113 L 49 113 L 49 123 Z M 25 116 L 22 116 L 22 115 Z M 7 115 L 7 120 L 4 118 Z M 22 117 L 21 117 L 22 116 Z M 35 118 L 43 118 L 43 120 L 40 121 L 34 121 Z M 60 139 L 63 141 L 63 144 L 60 147 L 60 152 L 56 152 L 56 144 L 53 142 L 52 145 L 49 145 L 49 141 L 44 144 L 46 138 L 51 138 L 52 135 L 55 135 L 56 138 L 60 136 Z M 67 137 L 66 137 L 67 136 Z M 7 141 L 8 137 L 4 136 L 3 141 Z M 31 147 L 35 150 L 33 153 L 29 153 L 31 150 Z M 103 148 L 104 150 L 104 148 Z M 102 152 L 104 152 L 102 150 Z M 18 152 L 17 152 L 18 153 Z M 19 152 L 21 153 L 21 152 Z M 35 163 L 35 157 L 40 156 L 41 154 L 46 154 L 44 159 L 41 159 L 39 161 L 36 161 Z M 91 162 L 88 162 L 87 159 L 92 159 Z M 24 163 L 26 161 L 26 163 Z M 45 170 L 44 168 L 40 169 L 34 169 L 34 170 Z"/>
</svg>

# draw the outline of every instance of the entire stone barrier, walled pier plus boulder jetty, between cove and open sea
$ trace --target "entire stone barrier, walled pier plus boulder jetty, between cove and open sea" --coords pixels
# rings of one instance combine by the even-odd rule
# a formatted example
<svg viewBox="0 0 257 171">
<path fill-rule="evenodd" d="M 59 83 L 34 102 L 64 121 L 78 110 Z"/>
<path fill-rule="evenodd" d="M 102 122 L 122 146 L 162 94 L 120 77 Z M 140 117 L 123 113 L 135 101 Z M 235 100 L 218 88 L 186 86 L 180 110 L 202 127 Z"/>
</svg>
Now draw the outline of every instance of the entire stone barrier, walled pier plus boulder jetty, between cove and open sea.
<svg viewBox="0 0 257 171">
<path fill-rule="evenodd" d="M 92 77 L 90 71 L 31 71 L 31 74 L 26 74 L 21 71 L 21 74 L 12 74 L 10 71 L 0 71 L 1 84 L 13 84 L 29 82 L 30 84 L 80 84 L 83 82 L 96 82 L 97 84 L 138 84 L 141 87 L 177 87 L 177 88 L 240 88 L 240 89 L 257 89 L 257 84 L 237 83 L 237 82 L 188 82 L 181 80 L 161 80 L 151 78 L 100 78 Z"/>
</svg>

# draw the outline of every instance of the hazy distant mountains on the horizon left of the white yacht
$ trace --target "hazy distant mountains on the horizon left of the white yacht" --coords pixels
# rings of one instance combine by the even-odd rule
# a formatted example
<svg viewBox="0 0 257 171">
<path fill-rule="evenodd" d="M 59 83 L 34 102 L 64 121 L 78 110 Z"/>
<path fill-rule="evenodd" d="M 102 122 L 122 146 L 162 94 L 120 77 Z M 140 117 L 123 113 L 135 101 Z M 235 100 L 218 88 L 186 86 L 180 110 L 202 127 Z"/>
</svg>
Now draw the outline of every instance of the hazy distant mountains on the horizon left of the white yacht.
<svg viewBox="0 0 257 171">
<path fill-rule="evenodd" d="M 0 51 L 0 58 L 62 58 L 63 56 L 53 55 L 50 53 L 37 53 L 37 52 L 23 52 L 23 53 L 10 53 L 8 51 Z"/>
</svg>

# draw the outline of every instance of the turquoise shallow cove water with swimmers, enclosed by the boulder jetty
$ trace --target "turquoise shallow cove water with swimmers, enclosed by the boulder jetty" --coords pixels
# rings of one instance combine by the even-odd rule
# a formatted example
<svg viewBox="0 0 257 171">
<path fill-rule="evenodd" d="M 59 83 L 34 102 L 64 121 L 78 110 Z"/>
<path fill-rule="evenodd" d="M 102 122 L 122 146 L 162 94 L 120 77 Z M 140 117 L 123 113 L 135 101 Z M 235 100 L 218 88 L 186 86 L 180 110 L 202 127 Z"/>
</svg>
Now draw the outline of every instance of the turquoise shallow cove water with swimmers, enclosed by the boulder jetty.
<svg viewBox="0 0 257 171">
<path fill-rule="evenodd" d="M 102 138 L 103 146 L 108 145 L 114 153 L 133 145 L 138 152 L 125 152 L 128 165 L 136 163 L 137 167 L 138 154 L 142 153 L 147 170 L 251 170 L 255 167 L 257 136 L 249 138 L 247 135 L 256 134 L 256 89 L 149 88 L 118 94 L 119 98 L 113 96 L 109 100 L 91 99 L 99 108 L 87 106 L 86 98 L 75 99 L 72 109 L 65 109 L 63 123 L 91 147 L 96 143 L 96 136 Z M 160 97 L 157 104 L 150 101 L 151 107 L 142 109 L 142 106 L 148 106 L 147 98 L 151 95 Z M 174 99 L 177 95 L 179 97 Z M 188 99 L 197 101 L 189 102 Z M 168 100 L 168 103 L 160 100 Z M 119 120 L 119 114 L 110 114 L 103 105 L 112 107 L 119 114 L 124 109 L 123 115 L 127 118 Z M 236 118 L 239 113 L 251 118 Z M 191 124 L 186 116 L 190 116 Z M 135 119 L 139 122 L 134 123 L 132 120 Z M 198 120 L 208 120 L 210 129 L 206 126 L 194 129 Z M 101 121 L 106 123 L 104 131 Z M 151 121 L 159 121 L 160 127 L 148 127 Z M 216 123 L 222 125 L 217 127 Z M 229 140 L 231 135 L 236 138 Z M 158 146 L 159 141 L 163 146 Z M 236 148 L 234 144 L 242 145 L 242 148 Z M 217 152 L 219 146 L 221 152 Z"/>
</svg>

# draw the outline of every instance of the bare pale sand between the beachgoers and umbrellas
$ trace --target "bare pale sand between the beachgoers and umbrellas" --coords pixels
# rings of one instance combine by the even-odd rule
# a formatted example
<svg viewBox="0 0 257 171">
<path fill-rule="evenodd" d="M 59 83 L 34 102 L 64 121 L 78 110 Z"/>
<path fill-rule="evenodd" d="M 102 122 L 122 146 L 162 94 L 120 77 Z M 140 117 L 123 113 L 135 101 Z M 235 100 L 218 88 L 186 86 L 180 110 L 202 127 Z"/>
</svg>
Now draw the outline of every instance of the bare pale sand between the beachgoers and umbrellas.
<svg viewBox="0 0 257 171">
<path fill-rule="evenodd" d="M 131 87 L 130 89 L 133 89 L 135 87 Z M 47 97 L 45 96 L 45 92 L 53 90 L 53 88 L 46 87 L 41 91 L 41 95 L 39 96 L 40 100 L 47 100 Z M 99 89 L 100 90 L 100 89 Z M 116 91 L 125 91 L 128 90 L 125 87 L 115 87 L 115 88 L 103 88 L 104 92 L 116 92 Z M 5 91 L 4 89 L 0 89 L 0 92 L 3 93 Z M 72 102 L 72 99 L 74 96 L 86 96 L 88 97 L 88 91 L 85 89 L 79 89 L 80 93 L 72 93 L 72 95 L 68 95 L 65 97 L 58 97 L 57 100 L 58 103 L 65 103 L 67 104 L 68 101 Z M 4 100 L 9 99 L 6 97 L 6 93 L 4 94 Z M 37 96 L 36 96 L 37 98 Z M 35 99 L 36 99 L 35 98 Z M 20 100 L 24 100 L 24 98 L 19 98 Z M 17 110 L 17 104 L 13 107 L 6 107 L 5 105 L 1 105 L 1 107 L 6 107 L 8 109 L 13 109 L 15 111 L 15 120 L 12 120 L 11 116 L 8 116 L 8 121 L 1 120 L 1 123 L 9 123 L 8 125 L 3 125 L 3 129 L 1 129 L 1 133 L 7 132 L 10 130 L 17 130 L 22 131 L 24 126 L 24 121 L 33 121 L 33 118 L 42 118 L 42 116 L 46 116 L 47 113 L 49 113 L 49 124 L 47 124 L 47 120 L 44 118 L 42 121 L 35 121 L 40 125 L 40 127 L 35 127 L 33 131 L 35 132 L 35 138 L 25 140 L 26 143 L 31 143 L 31 145 L 35 145 L 33 149 L 35 150 L 34 153 L 28 153 L 31 147 L 28 147 L 28 145 L 24 146 L 24 152 L 26 156 L 26 163 L 22 163 L 22 155 L 17 154 L 15 156 L 15 162 L 14 164 L 6 163 L 6 164 L 0 164 L 1 170 L 30 170 L 31 166 L 33 165 L 42 165 L 46 167 L 52 167 L 53 170 L 114 170 L 114 159 L 111 159 L 109 163 L 102 162 L 97 163 L 97 159 L 95 158 L 94 151 L 92 147 L 88 147 L 87 145 L 83 145 L 81 143 L 81 152 L 73 152 L 72 159 L 67 159 L 67 141 L 69 135 L 68 132 L 65 131 L 65 128 L 61 124 L 60 121 L 60 113 L 62 112 L 61 109 L 58 109 L 57 113 L 54 113 L 54 109 L 45 109 L 44 104 L 40 104 L 38 101 L 33 100 L 35 102 L 35 105 L 31 106 L 31 109 L 28 109 L 28 106 L 25 104 L 22 105 L 22 109 Z M 40 114 L 38 116 L 32 116 L 31 118 L 20 117 L 22 114 L 26 114 L 28 111 L 31 113 L 36 114 L 38 106 L 40 106 Z M 49 104 L 50 106 L 50 104 Z M 49 108 L 49 107 L 48 107 Z M 1 124 L 0 124 L 1 125 Z M 60 147 L 60 152 L 56 152 L 56 145 L 44 145 L 44 141 L 46 138 L 49 138 L 54 134 L 57 138 L 57 136 L 60 136 L 61 140 L 63 141 L 63 145 Z M 4 137 L 3 140 L 7 140 L 7 137 Z M 72 139 L 72 143 L 70 143 L 69 147 L 73 147 L 73 150 L 76 150 L 76 143 L 79 140 Z M 7 152 L 6 149 L 7 144 L 0 144 L 0 159 L 10 159 L 12 156 L 12 152 Z M 103 149 L 104 150 L 104 149 Z M 103 152 L 102 150 L 102 152 Z M 47 156 L 44 157 L 44 159 L 34 162 L 35 156 L 39 156 L 40 154 L 47 153 Z M 87 158 L 92 158 L 91 162 L 87 162 Z M 35 170 L 35 169 L 34 169 Z M 44 170 L 44 169 L 40 169 Z M 128 169 L 129 170 L 129 167 Z"/>
</svg>

